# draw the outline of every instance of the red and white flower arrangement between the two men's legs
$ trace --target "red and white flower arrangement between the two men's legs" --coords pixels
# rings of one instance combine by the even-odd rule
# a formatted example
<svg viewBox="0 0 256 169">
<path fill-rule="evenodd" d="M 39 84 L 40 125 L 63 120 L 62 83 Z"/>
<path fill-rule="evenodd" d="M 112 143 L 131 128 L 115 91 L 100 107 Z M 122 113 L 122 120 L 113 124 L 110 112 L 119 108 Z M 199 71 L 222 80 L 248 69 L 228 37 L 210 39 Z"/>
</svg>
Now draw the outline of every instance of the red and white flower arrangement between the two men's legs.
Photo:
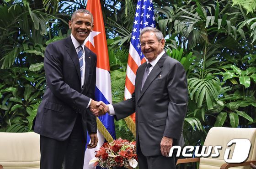
<svg viewBox="0 0 256 169">
<path fill-rule="evenodd" d="M 95 158 L 90 163 L 105 168 L 113 166 L 125 168 L 136 168 L 138 165 L 135 141 L 118 138 L 111 143 L 104 143 L 99 151 L 96 151 Z"/>
</svg>

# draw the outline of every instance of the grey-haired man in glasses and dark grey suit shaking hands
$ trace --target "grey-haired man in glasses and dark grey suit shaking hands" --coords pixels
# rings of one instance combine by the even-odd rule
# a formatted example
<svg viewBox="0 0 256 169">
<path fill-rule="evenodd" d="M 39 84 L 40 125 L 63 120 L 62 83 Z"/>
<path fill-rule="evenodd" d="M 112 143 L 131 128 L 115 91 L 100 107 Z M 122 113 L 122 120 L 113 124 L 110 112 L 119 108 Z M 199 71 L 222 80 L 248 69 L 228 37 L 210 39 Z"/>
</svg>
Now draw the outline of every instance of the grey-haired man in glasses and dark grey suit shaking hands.
<svg viewBox="0 0 256 169">
<path fill-rule="evenodd" d="M 141 51 L 147 62 L 139 66 L 132 98 L 102 104 L 117 120 L 136 112 L 136 140 L 140 169 L 175 169 L 168 157 L 171 146 L 184 144 L 182 127 L 187 112 L 187 78 L 179 61 L 164 51 L 163 34 L 151 27 L 140 32 Z M 101 115 L 91 109 L 94 115 Z"/>
</svg>

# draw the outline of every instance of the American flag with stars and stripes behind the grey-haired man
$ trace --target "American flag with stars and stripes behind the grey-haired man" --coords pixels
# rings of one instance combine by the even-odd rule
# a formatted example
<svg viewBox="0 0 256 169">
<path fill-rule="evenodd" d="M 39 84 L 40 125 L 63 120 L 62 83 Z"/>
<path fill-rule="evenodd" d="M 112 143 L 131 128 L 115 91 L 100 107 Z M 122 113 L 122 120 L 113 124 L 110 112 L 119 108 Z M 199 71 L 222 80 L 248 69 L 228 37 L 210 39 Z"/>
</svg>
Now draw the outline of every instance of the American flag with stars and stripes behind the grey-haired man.
<svg viewBox="0 0 256 169">
<path fill-rule="evenodd" d="M 144 27 L 155 27 L 155 16 L 153 9 L 153 0 L 138 0 L 136 13 L 133 22 L 133 32 L 129 49 L 128 66 L 126 72 L 126 81 L 124 89 L 124 98 L 132 97 L 134 92 L 135 77 L 138 67 L 146 61 L 141 52 L 139 33 Z M 135 114 L 132 115 L 135 121 Z"/>
</svg>

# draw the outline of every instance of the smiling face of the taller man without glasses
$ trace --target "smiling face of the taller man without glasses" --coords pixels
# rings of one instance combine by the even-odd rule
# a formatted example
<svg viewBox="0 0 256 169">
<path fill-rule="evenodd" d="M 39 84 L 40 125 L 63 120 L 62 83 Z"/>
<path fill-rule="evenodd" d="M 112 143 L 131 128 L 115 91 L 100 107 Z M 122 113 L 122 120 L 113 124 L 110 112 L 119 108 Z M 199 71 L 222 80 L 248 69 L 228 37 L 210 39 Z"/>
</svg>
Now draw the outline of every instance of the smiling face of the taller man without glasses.
<svg viewBox="0 0 256 169">
<path fill-rule="evenodd" d="M 91 19 L 90 14 L 76 13 L 73 20 L 69 20 L 69 29 L 80 44 L 84 43 L 93 28 Z"/>
</svg>

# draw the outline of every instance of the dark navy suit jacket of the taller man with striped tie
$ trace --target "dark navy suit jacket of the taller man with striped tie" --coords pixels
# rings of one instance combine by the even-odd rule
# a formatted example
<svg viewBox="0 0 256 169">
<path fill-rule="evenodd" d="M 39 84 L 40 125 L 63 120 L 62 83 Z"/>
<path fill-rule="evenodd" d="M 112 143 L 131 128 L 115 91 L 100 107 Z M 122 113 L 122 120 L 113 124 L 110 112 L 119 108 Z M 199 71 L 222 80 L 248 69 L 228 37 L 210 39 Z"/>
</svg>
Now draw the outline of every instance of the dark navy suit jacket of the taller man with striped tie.
<svg viewBox="0 0 256 169">
<path fill-rule="evenodd" d="M 34 132 L 59 141 L 66 140 L 81 114 L 83 129 L 96 133 L 96 117 L 86 109 L 94 99 L 96 54 L 85 47 L 85 85 L 81 87 L 78 56 L 71 37 L 50 43 L 44 56 L 47 87 L 37 110 Z"/>
</svg>

